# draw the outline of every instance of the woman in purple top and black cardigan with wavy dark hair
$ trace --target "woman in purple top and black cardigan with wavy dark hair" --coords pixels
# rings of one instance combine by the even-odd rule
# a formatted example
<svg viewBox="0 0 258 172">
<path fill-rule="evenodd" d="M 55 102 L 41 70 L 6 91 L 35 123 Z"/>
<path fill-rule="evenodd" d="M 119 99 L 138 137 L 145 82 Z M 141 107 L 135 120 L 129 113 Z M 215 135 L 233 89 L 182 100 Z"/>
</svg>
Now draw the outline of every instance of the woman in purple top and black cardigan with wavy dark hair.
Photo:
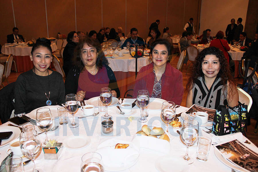
<svg viewBox="0 0 258 172">
<path fill-rule="evenodd" d="M 77 94 L 78 101 L 82 101 L 99 96 L 101 88 L 109 87 L 113 97 L 120 96 L 114 72 L 97 41 L 86 38 L 79 42 L 73 62 L 65 80 L 66 94 Z"/>
</svg>

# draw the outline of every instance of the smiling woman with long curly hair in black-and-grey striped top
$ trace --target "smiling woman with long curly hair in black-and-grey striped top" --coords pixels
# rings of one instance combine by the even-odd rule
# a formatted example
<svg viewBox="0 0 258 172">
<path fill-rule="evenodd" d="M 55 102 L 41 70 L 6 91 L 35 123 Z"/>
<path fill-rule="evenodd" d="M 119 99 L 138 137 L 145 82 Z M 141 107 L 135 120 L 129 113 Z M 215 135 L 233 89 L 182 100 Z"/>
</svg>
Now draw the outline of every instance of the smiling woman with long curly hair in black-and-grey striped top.
<svg viewBox="0 0 258 172">
<path fill-rule="evenodd" d="M 186 107 L 197 104 L 217 109 L 225 99 L 231 107 L 238 105 L 238 92 L 227 59 L 216 47 L 205 48 L 198 54 L 186 89 Z"/>
</svg>

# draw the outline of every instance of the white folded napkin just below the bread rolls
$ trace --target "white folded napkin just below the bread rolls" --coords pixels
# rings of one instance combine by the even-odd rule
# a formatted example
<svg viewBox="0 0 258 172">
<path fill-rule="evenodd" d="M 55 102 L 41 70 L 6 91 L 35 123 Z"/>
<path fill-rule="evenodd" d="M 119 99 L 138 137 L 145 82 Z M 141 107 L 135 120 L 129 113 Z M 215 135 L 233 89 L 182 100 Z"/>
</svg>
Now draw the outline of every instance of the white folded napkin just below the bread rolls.
<svg viewBox="0 0 258 172">
<path fill-rule="evenodd" d="M 170 152 L 170 143 L 167 140 L 135 134 L 132 142 L 140 148 L 146 148 L 165 154 Z"/>
</svg>

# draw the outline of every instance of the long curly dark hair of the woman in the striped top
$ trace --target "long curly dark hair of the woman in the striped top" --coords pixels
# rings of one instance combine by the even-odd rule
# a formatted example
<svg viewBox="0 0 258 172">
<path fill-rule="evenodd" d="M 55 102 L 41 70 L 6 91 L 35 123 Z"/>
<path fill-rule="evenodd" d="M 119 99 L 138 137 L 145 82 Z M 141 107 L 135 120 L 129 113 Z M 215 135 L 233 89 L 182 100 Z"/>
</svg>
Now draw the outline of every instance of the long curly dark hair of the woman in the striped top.
<svg viewBox="0 0 258 172">
<path fill-rule="evenodd" d="M 204 75 L 204 73 L 202 72 L 202 62 L 206 55 L 215 55 L 219 59 L 220 71 L 218 73 L 218 77 L 221 78 L 221 81 L 223 83 L 223 87 L 222 87 L 223 95 L 226 88 L 228 88 L 229 99 L 232 99 L 233 97 L 232 87 L 235 86 L 234 80 L 232 75 L 230 74 L 227 59 L 225 58 L 223 52 L 216 47 L 205 48 L 196 57 L 195 62 L 193 63 L 191 76 L 189 77 L 188 82 L 186 84 L 187 92 L 189 93 L 189 91 L 193 89 L 195 81 L 199 77 L 202 77 Z M 227 87 L 227 81 L 229 81 L 228 87 Z"/>
</svg>

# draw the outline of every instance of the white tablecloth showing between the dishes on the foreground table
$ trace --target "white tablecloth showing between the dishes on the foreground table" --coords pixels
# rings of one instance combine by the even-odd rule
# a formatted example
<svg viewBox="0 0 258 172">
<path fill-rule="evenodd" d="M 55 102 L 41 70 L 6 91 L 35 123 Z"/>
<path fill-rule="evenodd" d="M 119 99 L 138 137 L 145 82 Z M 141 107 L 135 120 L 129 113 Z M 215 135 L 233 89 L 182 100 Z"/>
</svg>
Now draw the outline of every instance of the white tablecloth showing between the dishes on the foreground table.
<svg viewBox="0 0 258 172">
<path fill-rule="evenodd" d="M 124 102 L 130 102 L 132 103 L 134 99 L 125 99 Z M 56 108 L 59 107 L 58 105 L 52 106 L 50 108 L 52 115 L 54 117 L 58 116 Z M 55 110 L 53 110 L 53 108 Z M 187 110 L 186 107 L 179 107 L 177 108 L 177 113 L 183 112 L 184 110 Z M 98 108 L 95 107 L 95 112 L 98 111 Z M 63 171 L 80 171 L 80 165 L 81 165 L 81 157 L 90 151 L 96 151 L 98 145 L 102 143 L 105 140 L 113 140 L 113 139 L 119 139 L 131 142 L 134 138 L 134 135 L 137 131 L 141 129 L 141 126 L 144 124 L 147 124 L 148 126 L 161 126 L 161 118 L 160 118 L 160 110 L 149 110 L 149 116 L 148 116 L 148 122 L 146 123 L 140 123 L 137 122 L 137 118 L 140 116 L 140 109 L 135 106 L 133 107 L 133 111 L 136 112 L 134 115 L 132 115 L 133 119 L 130 121 L 127 117 L 128 116 L 120 116 L 116 113 L 117 108 L 116 105 L 108 107 L 108 113 L 112 115 L 112 120 L 114 121 L 114 125 L 116 128 L 120 129 L 122 134 L 120 136 L 117 136 L 115 138 L 105 138 L 98 134 L 98 130 L 101 128 L 101 117 L 98 116 L 93 119 L 78 119 L 78 116 L 83 115 L 83 112 L 81 109 L 78 109 L 78 111 L 75 114 L 75 121 L 79 122 L 79 127 L 77 128 L 69 128 L 68 125 L 60 126 L 59 130 L 56 130 L 55 132 L 48 133 L 48 139 L 55 139 L 58 142 L 64 142 L 65 138 L 71 138 L 72 136 L 85 136 L 91 140 L 90 144 L 84 148 L 72 150 L 68 149 L 66 147 L 63 148 L 62 153 L 60 154 L 60 157 L 58 160 L 49 160 L 44 159 L 44 153 L 41 151 L 40 155 L 36 159 L 36 167 L 38 169 L 43 169 L 44 172 L 63 172 Z M 32 111 L 31 113 L 35 113 L 35 111 Z M 26 114 L 27 116 L 35 116 L 36 114 Z M 180 117 L 179 117 L 180 118 Z M 71 122 L 71 116 L 69 115 L 69 122 Z M 2 124 L 2 126 L 6 126 L 10 122 Z M 55 125 L 59 125 L 58 118 L 55 119 Z M 162 126 L 163 127 L 163 126 Z M 36 126 L 37 130 L 38 127 Z M 165 127 L 163 127 L 165 130 Z M 200 127 L 200 135 L 202 135 L 202 129 L 205 129 L 204 127 Z M 159 152 L 159 146 L 156 145 L 156 151 L 146 149 L 142 146 L 140 146 L 140 156 L 138 158 L 138 161 L 129 169 L 124 170 L 124 172 L 131 172 L 131 171 L 150 171 L 150 172 L 158 172 L 158 170 L 155 168 L 155 162 L 159 160 L 161 157 L 164 157 L 165 155 L 169 155 L 170 157 L 173 157 L 175 159 L 179 159 L 181 155 L 185 154 L 186 147 L 179 141 L 179 135 L 177 134 L 176 130 L 169 129 L 169 136 L 172 138 L 170 140 L 169 146 L 170 150 L 167 150 L 167 153 L 161 153 Z M 44 141 L 44 134 L 40 134 L 40 141 Z M 138 136 L 141 137 L 141 136 Z M 144 136 L 145 137 L 145 136 Z M 244 136 L 243 136 L 244 137 Z M 248 140 L 244 137 L 244 140 Z M 244 145 L 248 146 L 248 144 L 243 143 Z M 254 148 L 254 151 L 257 152 L 258 148 L 251 143 L 251 145 Z M 250 145 L 250 146 L 251 146 Z M 7 156 L 6 150 L 9 148 L 9 145 L 3 146 L 0 148 L 0 161 L 3 161 L 3 159 Z M 161 147 L 160 147 L 161 148 Z M 162 149 L 162 148 L 161 148 Z M 196 148 L 189 148 L 189 155 L 193 157 L 193 163 L 190 165 L 186 165 L 188 168 L 188 172 L 218 172 L 218 171 L 231 171 L 231 168 L 224 165 L 220 160 L 216 157 L 214 154 L 214 147 L 211 146 L 210 154 L 208 157 L 208 161 L 206 162 L 200 162 L 197 161 L 194 157 L 196 155 Z M 172 165 L 173 164 L 173 165 Z M 177 169 L 180 167 L 177 167 L 177 162 L 171 162 L 171 170 Z M 25 171 L 31 171 L 32 170 L 32 163 L 24 166 Z M 104 166 L 105 168 L 105 166 Z"/>
</svg>

